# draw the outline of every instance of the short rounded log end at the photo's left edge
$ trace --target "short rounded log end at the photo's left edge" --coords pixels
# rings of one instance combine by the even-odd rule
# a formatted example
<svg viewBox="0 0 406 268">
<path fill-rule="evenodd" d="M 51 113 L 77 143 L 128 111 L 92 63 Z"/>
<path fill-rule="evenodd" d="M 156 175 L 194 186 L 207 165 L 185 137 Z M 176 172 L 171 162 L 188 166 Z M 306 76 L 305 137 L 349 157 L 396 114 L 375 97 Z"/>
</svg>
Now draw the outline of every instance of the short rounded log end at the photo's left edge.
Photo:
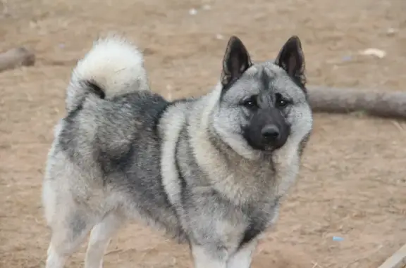
<svg viewBox="0 0 406 268">
<path fill-rule="evenodd" d="M 0 53 L 0 72 L 11 70 L 20 66 L 30 66 L 35 64 L 35 55 L 25 47 L 10 49 Z"/>
</svg>

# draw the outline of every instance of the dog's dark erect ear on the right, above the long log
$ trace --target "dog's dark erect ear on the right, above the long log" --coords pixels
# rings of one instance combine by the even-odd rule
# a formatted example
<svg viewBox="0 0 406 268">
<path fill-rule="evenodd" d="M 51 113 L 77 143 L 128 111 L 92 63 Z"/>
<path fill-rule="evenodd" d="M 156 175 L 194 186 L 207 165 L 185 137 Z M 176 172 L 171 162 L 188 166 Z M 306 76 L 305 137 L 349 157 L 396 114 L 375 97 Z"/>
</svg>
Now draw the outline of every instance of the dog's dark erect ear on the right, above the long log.
<svg viewBox="0 0 406 268">
<path fill-rule="evenodd" d="M 288 39 L 281 51 L 279 51 L 275 64 L 288 72 L 288 75 L 297 79 L 302 86 L 305 86 L 305 56 L 299 37 L 293 36 Z"/>
</svg>

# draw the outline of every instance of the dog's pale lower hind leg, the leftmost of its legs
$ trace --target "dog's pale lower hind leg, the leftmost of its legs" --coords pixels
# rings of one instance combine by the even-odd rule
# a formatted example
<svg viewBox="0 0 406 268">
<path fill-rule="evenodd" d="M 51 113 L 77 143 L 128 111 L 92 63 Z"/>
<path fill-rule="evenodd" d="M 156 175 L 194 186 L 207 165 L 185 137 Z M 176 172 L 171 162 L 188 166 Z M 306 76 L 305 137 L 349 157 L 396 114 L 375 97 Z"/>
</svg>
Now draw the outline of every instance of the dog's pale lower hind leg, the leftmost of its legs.
<svg viewBox="0 0 406 268">
<path fill-rule="evenodd" d="M 66 259 L 78 249 L 91 227 L 88 217 L 80 212 L 54 221 L 45 267 L 63 268 Z"/>
</svg>

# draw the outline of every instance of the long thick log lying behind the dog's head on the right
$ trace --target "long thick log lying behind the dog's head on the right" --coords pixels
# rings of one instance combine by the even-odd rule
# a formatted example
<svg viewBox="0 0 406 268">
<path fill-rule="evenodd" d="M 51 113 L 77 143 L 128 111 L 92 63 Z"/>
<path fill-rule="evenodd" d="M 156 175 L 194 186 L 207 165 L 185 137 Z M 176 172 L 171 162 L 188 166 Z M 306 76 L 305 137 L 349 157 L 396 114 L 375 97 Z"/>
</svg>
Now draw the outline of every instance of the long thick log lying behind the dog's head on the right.
<svg viewBox="0 0 406 268">
<path fill-rule="evenodd" d="M 310 87 L 314 112 L 352 113 L 362 111 L 379 117 L 406 119 L 406 92 Z"/>
</svg>

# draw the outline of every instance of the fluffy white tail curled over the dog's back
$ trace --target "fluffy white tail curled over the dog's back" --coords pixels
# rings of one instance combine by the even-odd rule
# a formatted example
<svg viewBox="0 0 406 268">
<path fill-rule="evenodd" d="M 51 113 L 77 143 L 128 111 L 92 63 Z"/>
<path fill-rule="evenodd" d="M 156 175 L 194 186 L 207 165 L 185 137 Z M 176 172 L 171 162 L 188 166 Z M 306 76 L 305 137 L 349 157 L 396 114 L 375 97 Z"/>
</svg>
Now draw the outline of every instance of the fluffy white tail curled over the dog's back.
<svg viewBox="0 0 406 268">
<path fill-rule="evenodd" d="M 72 72 L 66 108 L 75 110 L 89 94 L 111 98 L 137 90 L 149 90 L 141 51 L 123 37 L 98 39 Z"/>
</svg>

